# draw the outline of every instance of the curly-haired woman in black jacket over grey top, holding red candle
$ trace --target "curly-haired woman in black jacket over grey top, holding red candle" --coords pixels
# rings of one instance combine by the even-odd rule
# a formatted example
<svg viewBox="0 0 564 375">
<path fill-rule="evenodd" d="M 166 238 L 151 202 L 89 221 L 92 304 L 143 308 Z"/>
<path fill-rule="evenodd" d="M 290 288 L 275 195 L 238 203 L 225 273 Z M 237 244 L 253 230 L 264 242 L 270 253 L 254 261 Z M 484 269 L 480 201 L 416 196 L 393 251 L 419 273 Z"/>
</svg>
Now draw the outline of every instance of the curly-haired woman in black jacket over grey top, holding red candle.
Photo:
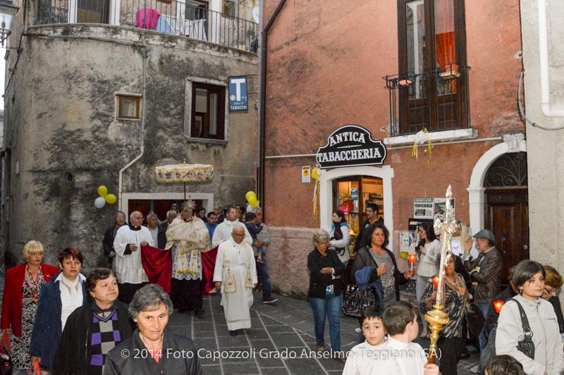
<svg viewBox="0 0 564 375">
<path fill-rule="evenodd" d="M 391 302 L 400 300 L 399 285 L 403 285 L 415 276 L 415 269 L 400 272 L 396 257 L 388 250 L 390 232 L 383 223 L 374 223 L 362 235 L 364 242 L 357 252 L 353 263 L 353 278 L 355 273 L 365 266 L 372 267 L 369 283 L 381 281 L 384 289 L 383 301 L 380 308 L 385 309 Z M 374 285 L 374 288 L 378 288 Z"/>
</svg>

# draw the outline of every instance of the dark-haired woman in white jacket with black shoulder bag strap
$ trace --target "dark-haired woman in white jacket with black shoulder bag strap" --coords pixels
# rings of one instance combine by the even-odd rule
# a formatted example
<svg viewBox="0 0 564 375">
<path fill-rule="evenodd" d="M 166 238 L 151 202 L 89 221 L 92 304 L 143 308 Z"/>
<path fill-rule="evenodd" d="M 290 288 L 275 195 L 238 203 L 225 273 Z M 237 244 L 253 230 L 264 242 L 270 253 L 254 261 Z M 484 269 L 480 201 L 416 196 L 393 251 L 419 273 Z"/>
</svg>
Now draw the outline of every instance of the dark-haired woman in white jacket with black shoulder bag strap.
<svg viewBox="0 0 564 375">
<path fill-rule="evenodd" d="M 551 303 L 541 298 L 545 276 L 544 267 L 531 260 L 520 262 L 513 271 L 513 283 L 519 289 L 513 300 L 521 304 L 527 315 L 533 333 L 534 358 L 517 350 L 517 343 L 525 336 L 517 303 L 505 301 L 498 319 L 496 354 L 517 359 L 527 375 L 560 375 L 564 371 L 564 349 L 556 313 Z"/>
</svg>

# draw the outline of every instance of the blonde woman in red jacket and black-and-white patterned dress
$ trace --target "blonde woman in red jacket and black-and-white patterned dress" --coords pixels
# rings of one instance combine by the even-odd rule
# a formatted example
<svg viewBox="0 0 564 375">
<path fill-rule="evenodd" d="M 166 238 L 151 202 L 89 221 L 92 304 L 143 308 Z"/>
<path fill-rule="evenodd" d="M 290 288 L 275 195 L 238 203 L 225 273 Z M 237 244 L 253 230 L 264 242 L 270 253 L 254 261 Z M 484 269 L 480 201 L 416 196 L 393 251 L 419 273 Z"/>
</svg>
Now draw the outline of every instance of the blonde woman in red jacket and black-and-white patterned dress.
<svg viewBox="0 0 564 375">
<path fill-rule="evenodd" d="M 43 254 L 41 242 L 32 240 L 25 244 L 25 262 L 6 271 L 2 297 L 0 328 L 4 335 L 8 334 L 8 328 L 12 328 L 13 366 L 25 369 L 27 375 L 32 374 L 29 349 L 39 292 L 45 283 L 51 281 L 51 276 L 59 273 L 55 266 L 42 262 Z"/>
</svg>

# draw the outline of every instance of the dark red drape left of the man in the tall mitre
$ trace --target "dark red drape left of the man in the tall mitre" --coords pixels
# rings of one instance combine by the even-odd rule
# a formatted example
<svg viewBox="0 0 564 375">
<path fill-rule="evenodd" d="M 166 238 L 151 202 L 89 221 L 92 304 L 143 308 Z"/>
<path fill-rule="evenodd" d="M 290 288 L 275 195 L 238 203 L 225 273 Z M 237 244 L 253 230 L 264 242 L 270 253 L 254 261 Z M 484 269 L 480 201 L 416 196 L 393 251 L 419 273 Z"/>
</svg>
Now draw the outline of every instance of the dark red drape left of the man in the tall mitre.
<svg viewBox="0 0 564 375">
<path fill-rule="evenodd" d="M 141 247 L 141 264 L 147 273 L 149 283 L 161 285 L 171 293 L 172 257 L 171 250 L 161 250 L 149 245 Z"/>
</svg>

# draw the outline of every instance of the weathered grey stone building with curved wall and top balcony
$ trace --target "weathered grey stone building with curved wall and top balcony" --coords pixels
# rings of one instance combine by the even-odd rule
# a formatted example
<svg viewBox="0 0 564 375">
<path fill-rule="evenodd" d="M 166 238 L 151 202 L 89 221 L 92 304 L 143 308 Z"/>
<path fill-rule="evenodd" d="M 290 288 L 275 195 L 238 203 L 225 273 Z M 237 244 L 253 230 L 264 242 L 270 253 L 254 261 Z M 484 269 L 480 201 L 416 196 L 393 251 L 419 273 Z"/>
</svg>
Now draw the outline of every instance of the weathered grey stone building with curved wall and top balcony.
<svg viewBox="0 0 564 375">
<path fill-rule="evenodd" d="M 222 13 L 221 0 L 146 1 L 160 15 L 152 23 L 147 13 L 146 27 L 143 10 L 131 16 L 127 2 L 121 13 L 93 8 L 103 1 L 74 13 L 73 1 L 31 1 L 27 12 L 16 4 L 6 70 L 6 266 L 20 262 L 31 239 L 43 242 L 51 264 L 75 246 L 84 266 L 95 266 L 117 209 L 165 219 L 171 202 L 183 201 L 183 184 L 157 183 L 155 166 L 212 164 L 212 181 L 185 187 L 207 211 L 243 202 L 255 187 L 257 23 L 249 1 L 240 2 L 242 18 Z M 229 110 L 233 76 L 247 78 L 248 111 Z M 99 185 L 118 202 L 94 208 Z"/>
</svg>

